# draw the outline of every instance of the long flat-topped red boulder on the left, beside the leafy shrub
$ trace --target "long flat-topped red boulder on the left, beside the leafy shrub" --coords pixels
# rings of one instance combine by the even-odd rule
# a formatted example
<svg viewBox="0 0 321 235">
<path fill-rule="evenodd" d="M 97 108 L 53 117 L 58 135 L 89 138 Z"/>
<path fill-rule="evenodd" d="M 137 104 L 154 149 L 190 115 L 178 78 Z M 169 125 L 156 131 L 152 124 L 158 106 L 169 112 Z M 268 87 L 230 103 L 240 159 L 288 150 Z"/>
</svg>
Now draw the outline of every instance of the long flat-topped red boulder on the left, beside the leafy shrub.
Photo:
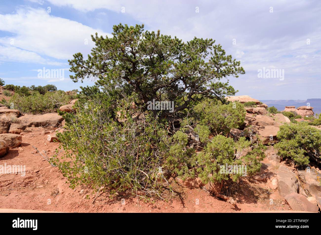
<svg viewBox="0 0 321 235">
<path fill-rule="evenodd" d="M 41 130 L 44 130 L 43 128 L 52 130 L 56 129 L 63 120 L 64 118 L 57 113 L 25 114 L 10 125 L 9 133 L 30 132 L 38 127 L 41 127 Z"/>
</svg>

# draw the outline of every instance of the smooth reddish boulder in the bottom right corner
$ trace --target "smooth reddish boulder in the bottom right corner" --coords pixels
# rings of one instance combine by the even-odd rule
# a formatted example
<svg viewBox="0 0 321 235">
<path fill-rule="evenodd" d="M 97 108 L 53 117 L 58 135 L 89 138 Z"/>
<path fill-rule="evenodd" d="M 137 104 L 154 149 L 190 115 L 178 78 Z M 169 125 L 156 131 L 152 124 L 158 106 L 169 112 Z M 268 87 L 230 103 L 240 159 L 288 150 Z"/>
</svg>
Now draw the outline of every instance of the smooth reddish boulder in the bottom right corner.
<svg viewBox="0 0 321 235">
<path fill-rule="evenodd" d="M 317 213 L 319 208 L 317 205 L 308 201 L 308 199 L 298 193 L 292 192 L 284 197 L 286 202 L 295 211 L 308 211 Z"/>
</svg>

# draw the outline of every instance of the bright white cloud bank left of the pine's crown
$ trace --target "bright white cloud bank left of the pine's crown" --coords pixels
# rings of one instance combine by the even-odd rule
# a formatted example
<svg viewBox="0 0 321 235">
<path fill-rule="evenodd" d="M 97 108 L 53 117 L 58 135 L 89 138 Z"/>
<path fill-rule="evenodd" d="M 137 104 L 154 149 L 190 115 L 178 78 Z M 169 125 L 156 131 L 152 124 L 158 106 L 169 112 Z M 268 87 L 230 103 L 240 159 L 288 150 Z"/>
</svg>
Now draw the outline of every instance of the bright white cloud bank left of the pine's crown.
<svg viewBox="0 0 321 235">
<path fill-rule="evenodd" d="M 13 37 L 0 38 L 6 58 L 42 64 L 48 60 L 41 56 L 66 60 L 72 59 L 72 55 L 79 51 L 87 55 L 94 46 L 90 35 L 95 32 L 110 36 L 100 29 L 52 16 L 44 9 L 33 8 L 20 8 L 13 14 L 0 14 L 0 30 L 14 34 Z M 88 44 L 85 44 L 85 40 Z"/>
</svg>

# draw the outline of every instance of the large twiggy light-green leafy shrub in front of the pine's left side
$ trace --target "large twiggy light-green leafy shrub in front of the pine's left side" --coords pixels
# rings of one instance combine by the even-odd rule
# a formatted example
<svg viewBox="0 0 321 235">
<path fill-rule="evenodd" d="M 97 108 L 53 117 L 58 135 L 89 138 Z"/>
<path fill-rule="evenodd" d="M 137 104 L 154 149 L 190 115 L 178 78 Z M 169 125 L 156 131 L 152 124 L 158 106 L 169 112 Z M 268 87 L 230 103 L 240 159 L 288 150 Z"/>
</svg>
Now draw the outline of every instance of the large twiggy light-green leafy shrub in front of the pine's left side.
<svg viewBox="0 0 321 235">
<path fill-rule="evenodd" d="M 65 155 L 61 161 L 52 161 L 72 188 L 85 184 L 95 189 L 105 186 L 112 192 L 129 189 L 135 194 L 158 193 L 167 133 L 148 115 L 144 121 L 134 121 L 129 110 L 131 102 L 118 103 L 120 119 L 127 119 L 122 123 L 106 116 L 110 106 L 99 102 L 88 101 L 87 106 L 77 107 L 76 114 L 66 114 L 68 131 L 58 135 Z M 186 145 L 181 136 L 173 138 Z"/>
</svg>

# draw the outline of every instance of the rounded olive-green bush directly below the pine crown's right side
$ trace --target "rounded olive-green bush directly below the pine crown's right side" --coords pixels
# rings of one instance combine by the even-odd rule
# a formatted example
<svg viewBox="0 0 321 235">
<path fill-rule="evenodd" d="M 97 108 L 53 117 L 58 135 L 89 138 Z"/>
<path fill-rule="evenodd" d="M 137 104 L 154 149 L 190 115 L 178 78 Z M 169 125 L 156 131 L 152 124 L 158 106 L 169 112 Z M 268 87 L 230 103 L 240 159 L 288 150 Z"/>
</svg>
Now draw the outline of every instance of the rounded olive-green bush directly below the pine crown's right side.
<svg viewBox="0 0 321 235">
<path fill-rule="evenodd" d="M 239 102 L 222 105 L 220 102 L 203 101 L 193 111 L 195 120 L 217 135 L 227 135 L 230 129 L 241 126 L 246 114 L 244 105 Z"/>
</svg>

